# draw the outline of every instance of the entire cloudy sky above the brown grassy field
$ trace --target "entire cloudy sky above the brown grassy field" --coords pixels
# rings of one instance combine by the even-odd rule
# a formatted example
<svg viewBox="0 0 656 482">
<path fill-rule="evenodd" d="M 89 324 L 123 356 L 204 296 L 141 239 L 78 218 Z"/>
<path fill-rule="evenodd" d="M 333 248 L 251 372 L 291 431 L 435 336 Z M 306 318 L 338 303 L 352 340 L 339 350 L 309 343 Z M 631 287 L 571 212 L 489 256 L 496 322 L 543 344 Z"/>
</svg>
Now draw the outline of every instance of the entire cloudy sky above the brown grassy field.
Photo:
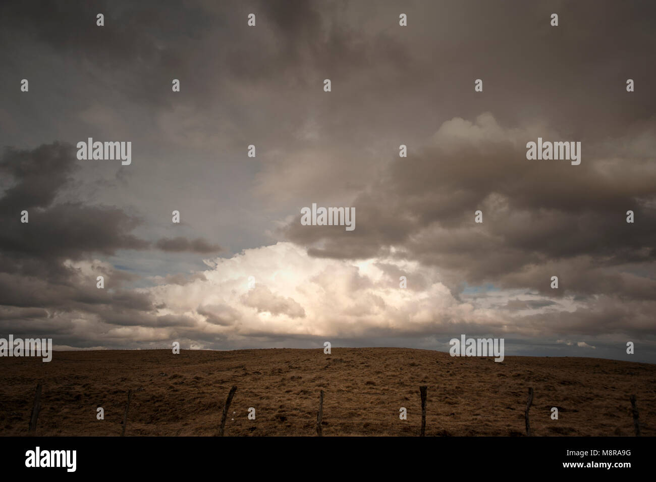
<svg viewBox="0 0 656 482">
<path fill-rule="evenodd" d="M 447 351 L 466 334 L 656 363 L 655 14 L 5 1 L 0 336 Z M 131 163 L 78 159 L 88 138 L 131 142 Z M 581 142 L 580 165 L 527 159 L 538 138 Z M 302 224 L 313 203 L 354 207 L 355 229 Z"/>
</svg>

